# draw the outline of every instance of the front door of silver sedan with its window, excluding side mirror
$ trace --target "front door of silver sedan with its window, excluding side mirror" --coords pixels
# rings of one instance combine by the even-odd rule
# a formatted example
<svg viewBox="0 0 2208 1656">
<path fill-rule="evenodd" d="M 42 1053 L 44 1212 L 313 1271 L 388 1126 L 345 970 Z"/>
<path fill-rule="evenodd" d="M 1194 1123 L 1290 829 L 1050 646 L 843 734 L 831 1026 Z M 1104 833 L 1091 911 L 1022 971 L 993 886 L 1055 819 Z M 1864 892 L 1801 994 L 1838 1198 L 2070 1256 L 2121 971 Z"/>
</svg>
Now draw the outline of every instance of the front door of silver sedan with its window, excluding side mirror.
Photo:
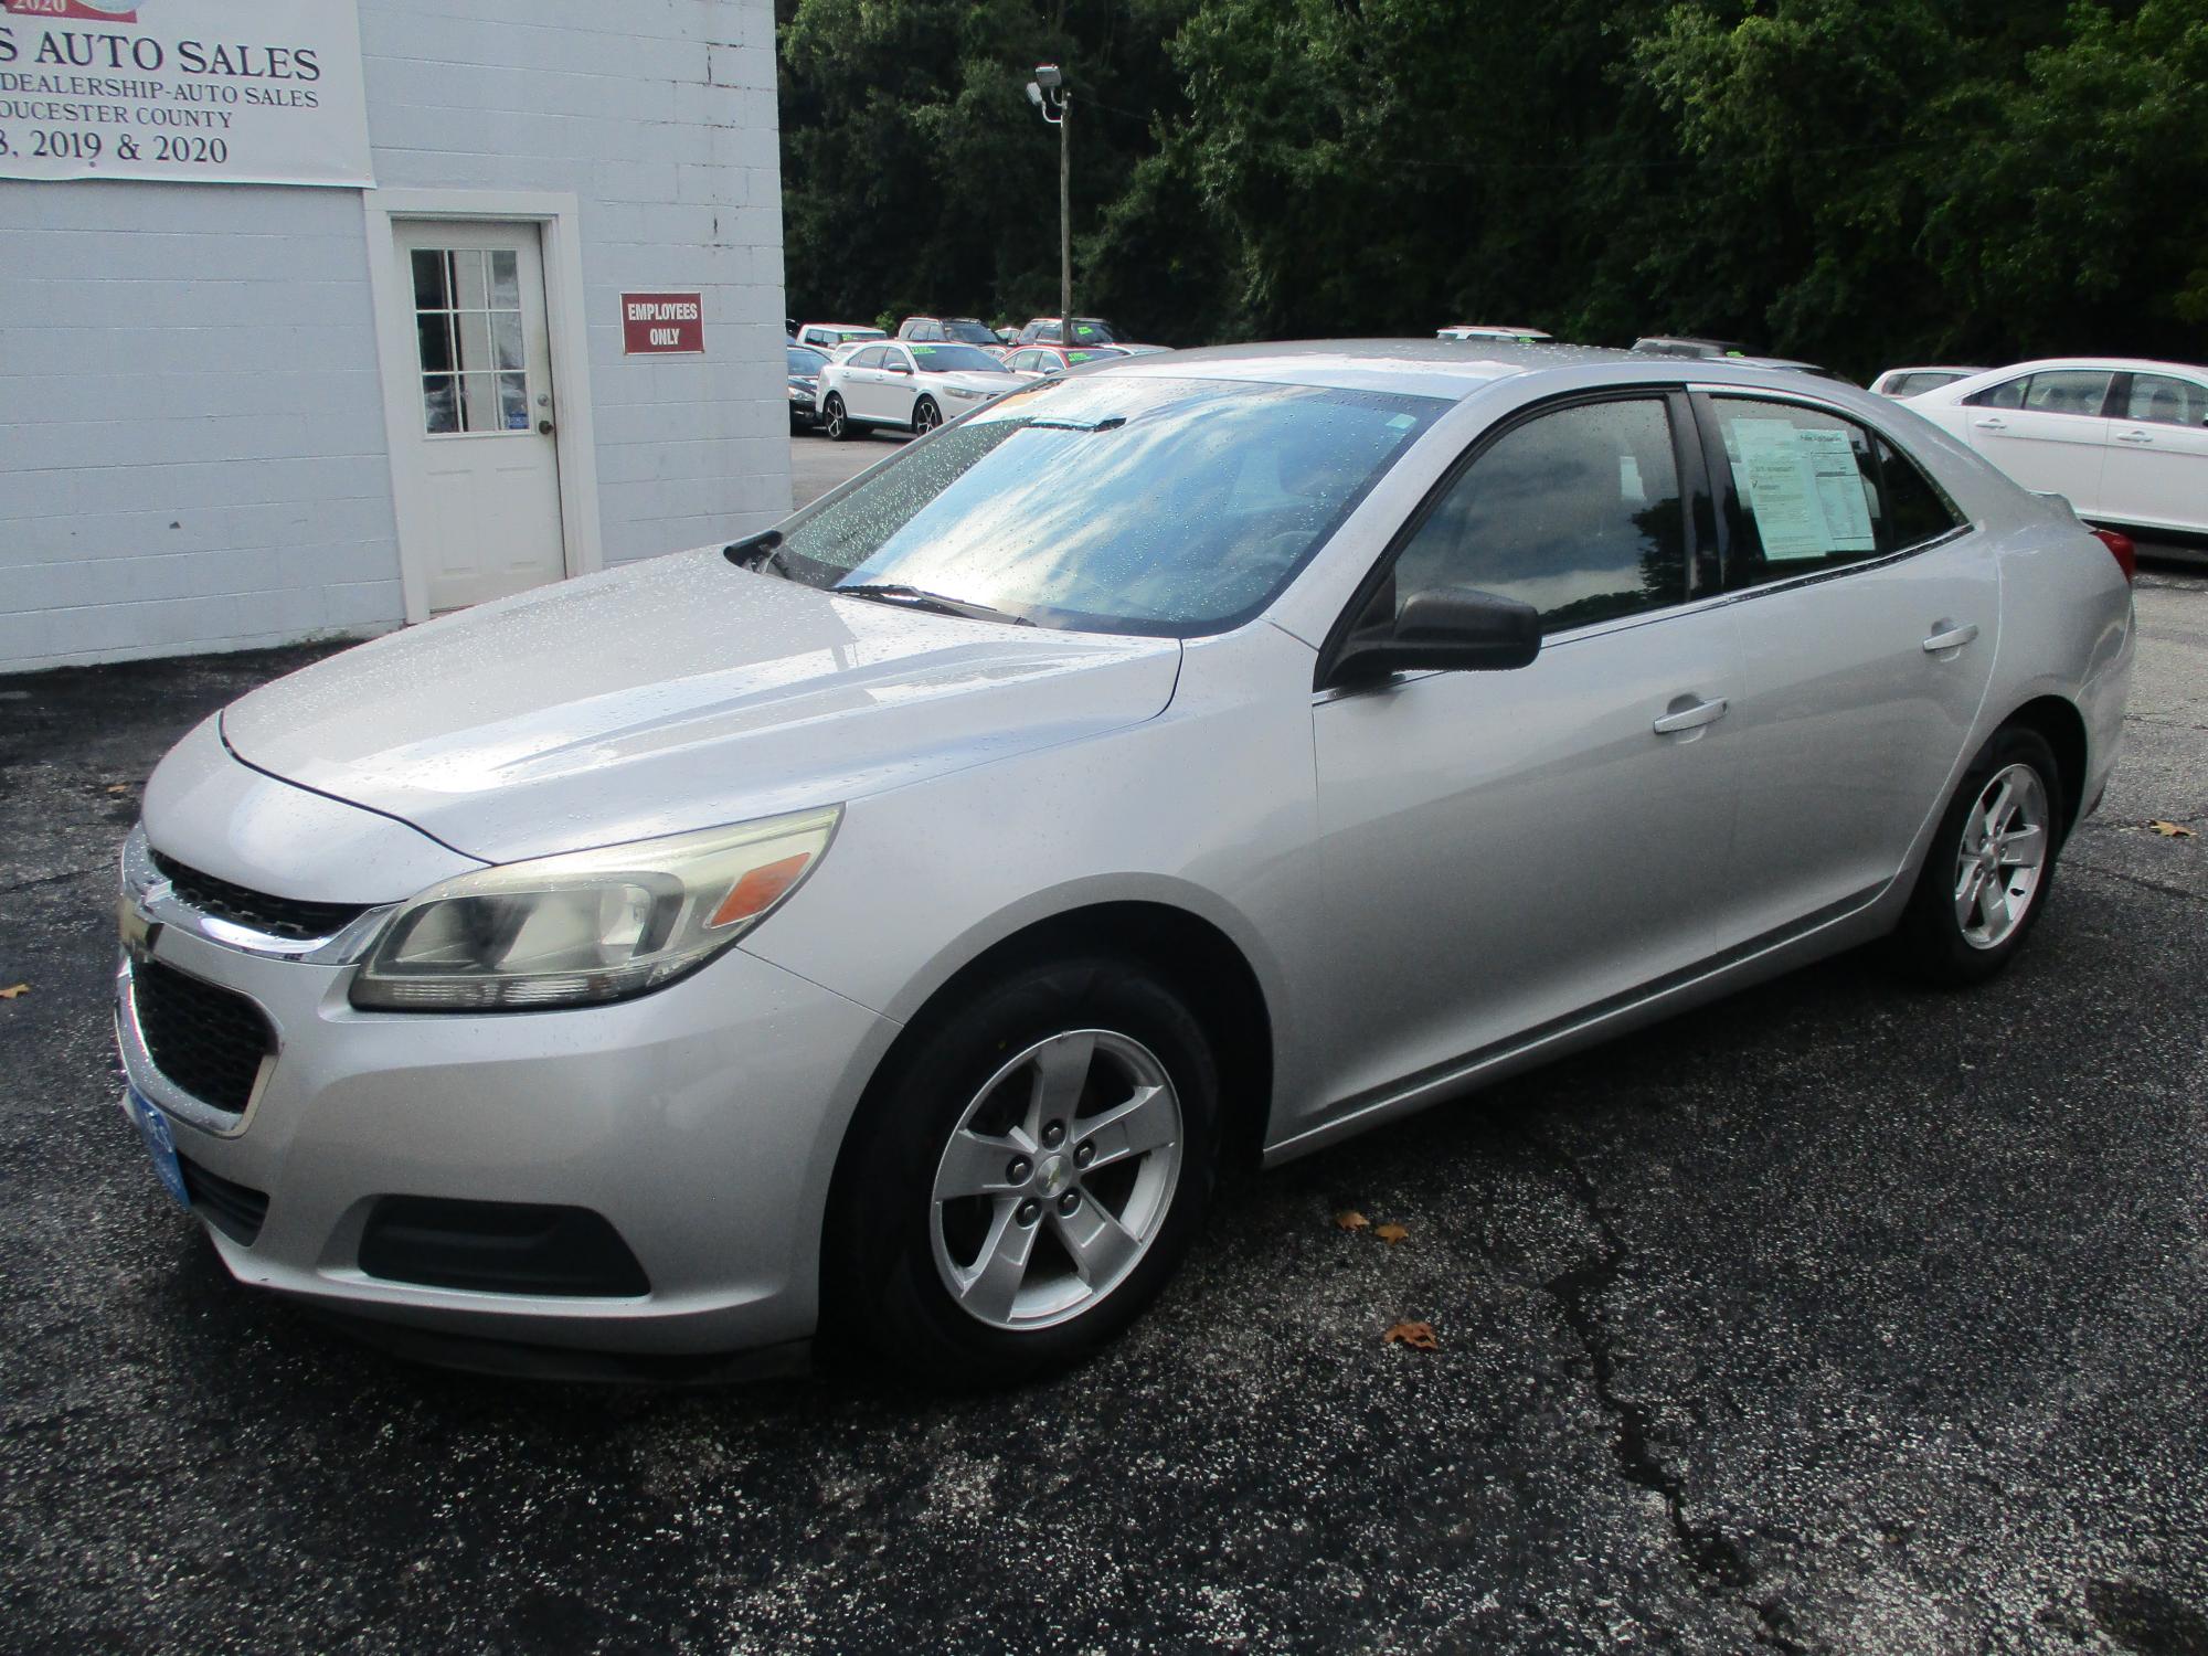
<svg viewBox="0 0 2208 1656">
<path fill-rule="evenodd" d="M 1517 420 L 1413 514 L 1354 627 L 1477 587 L 1541 614 L 1530 667 L 1320 691 L 1336 1111 L 1722 949 L 1740 696 L 1705 587 L 1685 395 Z M 1345 620 L 1345 627 L 1351 623 Z"/>
</svg>

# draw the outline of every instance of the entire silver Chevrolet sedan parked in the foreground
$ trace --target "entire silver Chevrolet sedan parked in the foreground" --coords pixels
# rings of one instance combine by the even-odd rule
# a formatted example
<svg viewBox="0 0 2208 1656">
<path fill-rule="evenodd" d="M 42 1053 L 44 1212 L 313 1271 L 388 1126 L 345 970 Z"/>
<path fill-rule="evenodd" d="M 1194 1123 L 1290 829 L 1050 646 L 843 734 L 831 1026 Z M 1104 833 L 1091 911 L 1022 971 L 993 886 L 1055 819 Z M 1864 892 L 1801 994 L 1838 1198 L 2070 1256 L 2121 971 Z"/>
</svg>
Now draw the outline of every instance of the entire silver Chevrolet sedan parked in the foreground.
<svg viewBox="0 0 2208 1656">
<path fill-rule="evenodd" d="M 1038 1373 L 1225 1168 L 1837 949 L 2000 972 L 2115 762 L 2111 550 L 1784 369 L 1044 382 L 185 735 L 124 1108 L 236 1278 L 433 1356 Z"/>
</svg>

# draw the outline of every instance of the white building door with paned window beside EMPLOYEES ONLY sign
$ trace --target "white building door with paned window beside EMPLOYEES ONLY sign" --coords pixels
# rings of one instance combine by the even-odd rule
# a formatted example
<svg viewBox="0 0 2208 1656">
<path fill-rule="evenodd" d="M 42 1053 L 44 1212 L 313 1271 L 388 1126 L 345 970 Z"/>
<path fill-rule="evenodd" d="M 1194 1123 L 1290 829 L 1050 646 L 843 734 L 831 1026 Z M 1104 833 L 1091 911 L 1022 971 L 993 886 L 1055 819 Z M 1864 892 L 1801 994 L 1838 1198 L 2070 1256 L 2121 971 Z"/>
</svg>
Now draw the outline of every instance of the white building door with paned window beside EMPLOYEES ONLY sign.
<svg viewBox="0 0 2208 1656">
<path fill-rule="evenodd" d="M 503 598 L 567 574 L 545 278 L 537 225 L 415 221 L 393 227 L 415 380 L 395 455 L 422 501 L 417 543 L 431 612 Z"/>
</svg>

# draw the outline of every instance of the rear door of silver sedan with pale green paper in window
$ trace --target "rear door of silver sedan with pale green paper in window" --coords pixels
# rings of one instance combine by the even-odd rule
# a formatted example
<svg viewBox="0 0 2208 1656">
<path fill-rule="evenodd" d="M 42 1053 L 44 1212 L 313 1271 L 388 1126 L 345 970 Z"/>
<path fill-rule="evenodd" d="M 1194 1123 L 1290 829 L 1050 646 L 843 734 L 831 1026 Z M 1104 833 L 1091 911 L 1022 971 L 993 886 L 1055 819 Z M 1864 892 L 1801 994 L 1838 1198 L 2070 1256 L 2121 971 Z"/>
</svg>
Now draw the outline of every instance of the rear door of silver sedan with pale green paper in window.
<svg viewBox="0 0 2208 1656">
<path fill-rule="evenodd" d="M 1868 901 L 1945 804 L 2000 576 L 1987 537 L 1861 422 L 1777 391 L 1696 406 L 1744 678 L 1729 901 L 1764 934 Z"/>
</svg>

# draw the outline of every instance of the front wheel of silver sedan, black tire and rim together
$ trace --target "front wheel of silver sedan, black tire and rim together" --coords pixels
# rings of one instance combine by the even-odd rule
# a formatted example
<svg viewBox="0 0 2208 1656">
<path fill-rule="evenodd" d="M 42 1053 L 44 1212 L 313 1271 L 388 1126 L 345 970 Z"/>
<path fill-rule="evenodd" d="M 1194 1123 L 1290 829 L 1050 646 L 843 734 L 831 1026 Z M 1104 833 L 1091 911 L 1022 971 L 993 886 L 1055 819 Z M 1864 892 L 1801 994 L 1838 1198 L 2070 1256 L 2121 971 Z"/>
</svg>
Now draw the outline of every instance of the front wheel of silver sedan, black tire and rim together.
<svg viewBox="0 0 2208 1656">
<path fill-rule="evenodd" d="M 958 1389 L 1078 1362 L 1186 1256 L 1217 1153 L 1212 1044 L 1164 978 L 1080 956 L 985 983 L 852 1122 L 824 1345 Z"/>
</svg>

